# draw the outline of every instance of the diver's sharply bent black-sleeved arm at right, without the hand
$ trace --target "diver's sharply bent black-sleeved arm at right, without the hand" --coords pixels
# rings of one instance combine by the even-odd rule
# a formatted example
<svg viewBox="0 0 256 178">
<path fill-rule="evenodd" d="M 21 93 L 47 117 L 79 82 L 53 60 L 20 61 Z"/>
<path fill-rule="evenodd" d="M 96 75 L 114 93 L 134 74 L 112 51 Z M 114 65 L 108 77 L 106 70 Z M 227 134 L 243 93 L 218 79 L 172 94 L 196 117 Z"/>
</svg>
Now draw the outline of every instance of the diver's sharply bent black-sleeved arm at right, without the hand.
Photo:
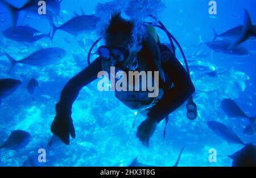
<svg viewBox="0 0 256 178">
<path fill-rule="evenodd" d="M 184 104 L 195 92 L 195 87 L 183 65 L 170 52 L 170 57 L 162 62 L 164 73 L 171 79 L 174 86 L 164 92 L 162 99 L 149 111 L 148 118 L 157 122 Z"/>
</svg>

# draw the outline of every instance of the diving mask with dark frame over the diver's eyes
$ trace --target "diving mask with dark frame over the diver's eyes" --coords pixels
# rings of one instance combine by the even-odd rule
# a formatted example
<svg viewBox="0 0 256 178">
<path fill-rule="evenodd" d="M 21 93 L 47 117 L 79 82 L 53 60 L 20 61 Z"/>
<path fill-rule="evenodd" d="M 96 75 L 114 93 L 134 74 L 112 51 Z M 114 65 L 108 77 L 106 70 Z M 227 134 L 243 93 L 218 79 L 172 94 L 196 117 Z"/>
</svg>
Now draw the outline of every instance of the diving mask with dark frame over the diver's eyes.
<svg viewBox="0 0 256 178">
<path fill-rule="evenodd" d="M 115 63 L 123 63 L 130 55 L 129 49 L 122 47 L 111 48 L 106 45 L 101 45 L 98 48 L 98 55 L 105 61 L 114 59 Z"/>
</svg>

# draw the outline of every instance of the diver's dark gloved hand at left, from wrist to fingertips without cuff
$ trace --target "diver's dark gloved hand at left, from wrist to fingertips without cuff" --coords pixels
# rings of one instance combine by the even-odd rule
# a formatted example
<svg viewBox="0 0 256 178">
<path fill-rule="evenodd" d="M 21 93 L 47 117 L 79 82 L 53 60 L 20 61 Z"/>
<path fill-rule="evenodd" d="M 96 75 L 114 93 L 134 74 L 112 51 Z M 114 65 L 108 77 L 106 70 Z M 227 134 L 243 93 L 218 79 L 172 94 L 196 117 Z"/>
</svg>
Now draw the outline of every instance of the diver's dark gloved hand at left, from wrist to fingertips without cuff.
<svg viewBox="0 0 256 178">
<path fill-rule="evenodd" d="M 72 138 L 76 138 L 75 127 L 71 117 L 56 115 L 52 125 L 51 132 L 62 140 L 63 143 L 69 145 L 69 134 Z"/>
</svg>

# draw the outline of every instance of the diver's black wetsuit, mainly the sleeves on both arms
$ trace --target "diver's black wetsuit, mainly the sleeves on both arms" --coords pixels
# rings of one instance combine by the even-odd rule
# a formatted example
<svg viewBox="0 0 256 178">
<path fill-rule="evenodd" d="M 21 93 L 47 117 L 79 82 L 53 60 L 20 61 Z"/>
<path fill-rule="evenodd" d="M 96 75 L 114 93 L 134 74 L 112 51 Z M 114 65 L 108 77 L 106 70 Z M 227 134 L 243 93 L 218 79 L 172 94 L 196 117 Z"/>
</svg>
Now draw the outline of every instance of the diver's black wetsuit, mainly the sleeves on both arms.
<svg viewBox="0 0 256 178">
<path fill-rule="evenodd" d="M 164 90 L 162 99 L 158 104 L 152 107 L 147 114 L 148 117 L 154 118 L 157 122 L 160 122 L 166 115 L 172 113 L 172 111 L 176 110 L 187 101 L 195 92 L 195 88 L 183 65 L 180 64 L 179 60 L 176 59 L 170 49 L 166 45 L 158 44 L 158 46 L 162 54 L 165 52 L 164 59 L 162 60 L 162 69 L 166 77 L 169 78 L 173 84 L 172 88 L 166 88 Z M 152 62 L 150 52 L 144 45 L 142 45 L 142 47 L 141 53 L 143 53 L 148 64 L 150 64 Z M 154 69 L 154 65 L 151 67 Z M 71 115 L 73 102 L 76 100 L 80 90 L 82 87 L 96 80 L 97 74 L 100 71 L 102 71 L 101 58 L 98 57 L 92 64 L 69 80 L 61 92 L 59 103 L 56 105 L 56 115 Z M 162 85 L 164 85 L 163 82 Z"/>
</svg>

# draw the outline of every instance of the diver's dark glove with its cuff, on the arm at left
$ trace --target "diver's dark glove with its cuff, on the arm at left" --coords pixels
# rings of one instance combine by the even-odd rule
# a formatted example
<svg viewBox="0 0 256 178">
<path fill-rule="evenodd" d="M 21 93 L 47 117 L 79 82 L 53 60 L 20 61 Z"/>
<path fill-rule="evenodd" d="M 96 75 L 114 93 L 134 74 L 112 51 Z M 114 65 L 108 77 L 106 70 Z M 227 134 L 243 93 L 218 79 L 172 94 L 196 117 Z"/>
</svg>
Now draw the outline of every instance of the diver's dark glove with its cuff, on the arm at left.
<svg viewBox="0 0 256 178">
<path fill-rule="evenodd" d="M 75 127 L 71 118 L 71 111 L 67 111 L 61 107 L 60 103 L 56 104 L 56 116 L 51 125 L 51 132 L 69 145 L 69 134 L 72 138 L 76 138 Z"/>
</svg>

